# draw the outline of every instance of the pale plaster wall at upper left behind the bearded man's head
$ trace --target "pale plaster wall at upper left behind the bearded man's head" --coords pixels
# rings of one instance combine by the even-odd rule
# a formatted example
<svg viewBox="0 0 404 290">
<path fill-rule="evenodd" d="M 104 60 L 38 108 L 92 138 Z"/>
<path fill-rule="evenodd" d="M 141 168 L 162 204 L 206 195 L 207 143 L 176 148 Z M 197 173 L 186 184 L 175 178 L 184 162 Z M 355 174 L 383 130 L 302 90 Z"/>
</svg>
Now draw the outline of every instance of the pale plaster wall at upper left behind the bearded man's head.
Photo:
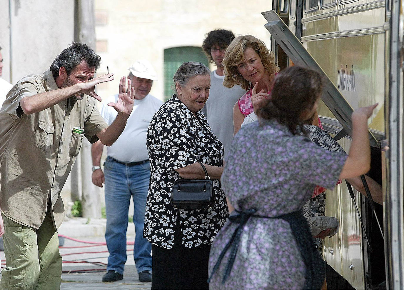
<svg viewBox="0 0 404 290">
<path fill-rule="evenodd" d="M 74 0 L 0 0 L 3 77 L 11 83 L 48 69 L 73 39 Z"/>
</svg>

